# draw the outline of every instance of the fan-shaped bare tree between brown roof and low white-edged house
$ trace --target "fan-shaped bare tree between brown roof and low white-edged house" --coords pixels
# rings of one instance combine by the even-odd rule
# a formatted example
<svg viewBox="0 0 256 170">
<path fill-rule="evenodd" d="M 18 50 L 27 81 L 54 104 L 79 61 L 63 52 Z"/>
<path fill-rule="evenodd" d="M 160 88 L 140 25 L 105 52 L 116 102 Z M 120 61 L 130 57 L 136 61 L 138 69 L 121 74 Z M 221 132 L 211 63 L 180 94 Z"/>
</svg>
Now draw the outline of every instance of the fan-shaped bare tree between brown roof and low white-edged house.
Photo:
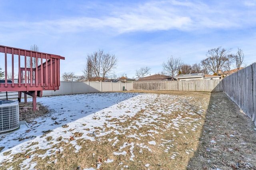
<svg viewBox="0 0 256 170">
<path fill-rule="evenodd" d="M 174 75 L 177 75 L 183 62 L 180 58 L 168 57 L 168 61 L 163 63 L 163 70 L 170 76 L 172 76 L 172 80 L 174 80 Z"/>
</svg>

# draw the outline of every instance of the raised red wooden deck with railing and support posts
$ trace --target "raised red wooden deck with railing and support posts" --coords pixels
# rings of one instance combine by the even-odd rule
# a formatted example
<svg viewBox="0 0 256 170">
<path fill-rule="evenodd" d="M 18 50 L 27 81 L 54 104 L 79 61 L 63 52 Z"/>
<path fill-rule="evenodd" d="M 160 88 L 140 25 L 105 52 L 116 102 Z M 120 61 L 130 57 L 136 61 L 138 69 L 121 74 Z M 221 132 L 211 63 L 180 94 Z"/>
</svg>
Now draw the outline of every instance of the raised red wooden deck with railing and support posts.
<svg viewBox="0 0 256 170">
<path fill-rule="evenodd" d="M 28 94 L 33 97 L 33 110 L 36 110 L 36 96 L 42 97 L 43 90 L 59 90 L 60 59 L 65 58 L 0 45 L 0 67 L 5 73 L 0 92 L 18 91 L 20 97 L 22 92 Z M 17 73 L 18 79 L 15 78 Z M 12 83 L 7 80 L 12 80 Z"/>
</svg>

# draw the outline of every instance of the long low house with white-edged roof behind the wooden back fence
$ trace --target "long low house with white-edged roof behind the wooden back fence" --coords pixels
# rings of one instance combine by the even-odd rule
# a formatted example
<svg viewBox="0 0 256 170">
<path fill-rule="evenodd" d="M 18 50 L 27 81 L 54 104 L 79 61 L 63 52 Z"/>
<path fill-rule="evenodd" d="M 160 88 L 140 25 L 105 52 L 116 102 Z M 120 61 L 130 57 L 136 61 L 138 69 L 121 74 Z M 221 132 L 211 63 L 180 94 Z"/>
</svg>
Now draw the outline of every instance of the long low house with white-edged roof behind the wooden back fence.
<svg viewBox="0 0 256 170">
<path fill-rule="evenodd" d="M 204 73 L 193 73 L 193 74 L 180 74 L 174 77 L 178 81 L 184 80 L 214 80 L 214 79 L 221 79 L 221 76 L 214 76 Z"/>
</svg>

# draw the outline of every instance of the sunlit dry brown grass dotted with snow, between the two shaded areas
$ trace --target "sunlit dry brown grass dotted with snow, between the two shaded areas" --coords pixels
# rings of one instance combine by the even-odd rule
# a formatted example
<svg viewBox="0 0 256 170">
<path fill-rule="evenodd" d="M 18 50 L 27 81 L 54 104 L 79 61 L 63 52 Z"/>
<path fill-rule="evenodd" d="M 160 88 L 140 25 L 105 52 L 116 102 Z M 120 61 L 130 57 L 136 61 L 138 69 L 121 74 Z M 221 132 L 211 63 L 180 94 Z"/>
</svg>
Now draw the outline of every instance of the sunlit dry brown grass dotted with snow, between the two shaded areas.
<svg viewBox="0 0 256 170">
<path fill-rule="evenodd" d="M 152 93 L 152 92 L 151 92 Z M 198 164 L 191 169 L 203 169 L 200 156 L 197 157 L 198 148 L 202 148 L 202 132 L 205 131 L 204 124 L 207 121 L 208 104 L 210 93 L 193 92 L 164 92 L 167 96 L 158 94 L 154 101 L 145 109 L 140 109 L 134 116 L 121 116 L 112 118 L 103 127 L 94 127 L 94 133 L 72 131 L 73 136 L 65 143 L 61 136 L 47 137 L 47 141 L 60 141 L 53 145 L 50 150 L 52 154 L 44 159 L 38 157 L 49 150 L 36 150 L 23 154 L 13 155 L 14 162 L 2 162 L 2 167 L 13 166 L 19 168 L 19 164 L 26 159 L 27 154 L 35 154 L 31 162 L 36 162 L 36 169 L 40 170 L 75 170 L 83 168 L 97 168 L 101 164 L 101 170 L 130 169 L 130 170 L 185 170 L 191 160 L 197 158 Z M 168 95 L 183 96 L 176 100 L 168 100 Z M 230 102 L 230 101 L 228 101 Z M 180 105 L 175 110 L 172 104 Z M 215 105 L 217 105 L 215 103 Z M 119 106 L 123 108 L 123 106 Z M 187 109 L 184 109 L 187 108 Z M 217 109 L 217 107 L 216 107 Z M 221 109 L 221 107 L 219 107 Z M 194 114 L 189 114 L 189 113 Z M 128 111 L 126 113 L 129 113 Z M 200 113 L 200 114 L 198 114 Z M 107 116 L 106 116 L 107 117 Z M 179 118 L 178 125 L 175 119 Z M 95 117 L 97 120 L 98 118 Z M 122 120 L 122 121 L 120 121 Z M 86 124 L 83 124 L 86 125 Z M 116 125 L 118 128 L 108 127 Z M 140 126 L 141 125 L 141 126 Z M 194 127 L 195 130 L 192 130 Z M 85 129 L 89 130 L 89 129 Z M 101 135 L 109 132 L 107 135 Z M 44 132 L 49 133 L 48 131 Z M 119 133 L 119 134 L 117 134 Z M 84 135 L 95 137 L 95 141 L 78 139 Z M 72 139 L 73 138 L 73 139 Z M 76 152 L 71 141 L 76 140 L 81 149 Z M 154 142 L 152 142 L 154 141 Z M 207 141 L 208 142 L 208 141 Z M 154 145 L 155 143 L 155 145 Z M 36 145 L 36 144 L 33 144 Z M 125 154 L 116 154 L 116 153 Z M 8 152 L 4 154 L 10 154 Z M 107 163 L 106 160 L 113 160 Z M 149 166 L 145 166 L 149 164 Z M 79 167 L 79 168 L 78 168 Z M 206 169 L 209 168 L 206 166 Z"/>
</svg>

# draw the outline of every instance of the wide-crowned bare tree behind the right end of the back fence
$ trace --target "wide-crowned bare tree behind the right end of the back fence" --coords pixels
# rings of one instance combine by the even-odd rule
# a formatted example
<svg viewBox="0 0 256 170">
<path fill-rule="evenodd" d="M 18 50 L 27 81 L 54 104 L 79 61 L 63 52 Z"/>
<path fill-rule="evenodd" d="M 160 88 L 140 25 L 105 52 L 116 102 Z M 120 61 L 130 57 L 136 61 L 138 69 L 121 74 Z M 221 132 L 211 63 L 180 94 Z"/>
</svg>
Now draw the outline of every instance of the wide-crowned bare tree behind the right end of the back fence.
<svg viewBox="0 0 256 170">
<path fill-rule="evenodd" d="M 207 58 L 202 60 L 201 63 L 207 70 L 210 70 L 210 72 L 218 73 L 232 57 L 229 53 L 230 50 L 221 49 L 221 47 L 210 49 L 206 54 Z"/>
</svg>

